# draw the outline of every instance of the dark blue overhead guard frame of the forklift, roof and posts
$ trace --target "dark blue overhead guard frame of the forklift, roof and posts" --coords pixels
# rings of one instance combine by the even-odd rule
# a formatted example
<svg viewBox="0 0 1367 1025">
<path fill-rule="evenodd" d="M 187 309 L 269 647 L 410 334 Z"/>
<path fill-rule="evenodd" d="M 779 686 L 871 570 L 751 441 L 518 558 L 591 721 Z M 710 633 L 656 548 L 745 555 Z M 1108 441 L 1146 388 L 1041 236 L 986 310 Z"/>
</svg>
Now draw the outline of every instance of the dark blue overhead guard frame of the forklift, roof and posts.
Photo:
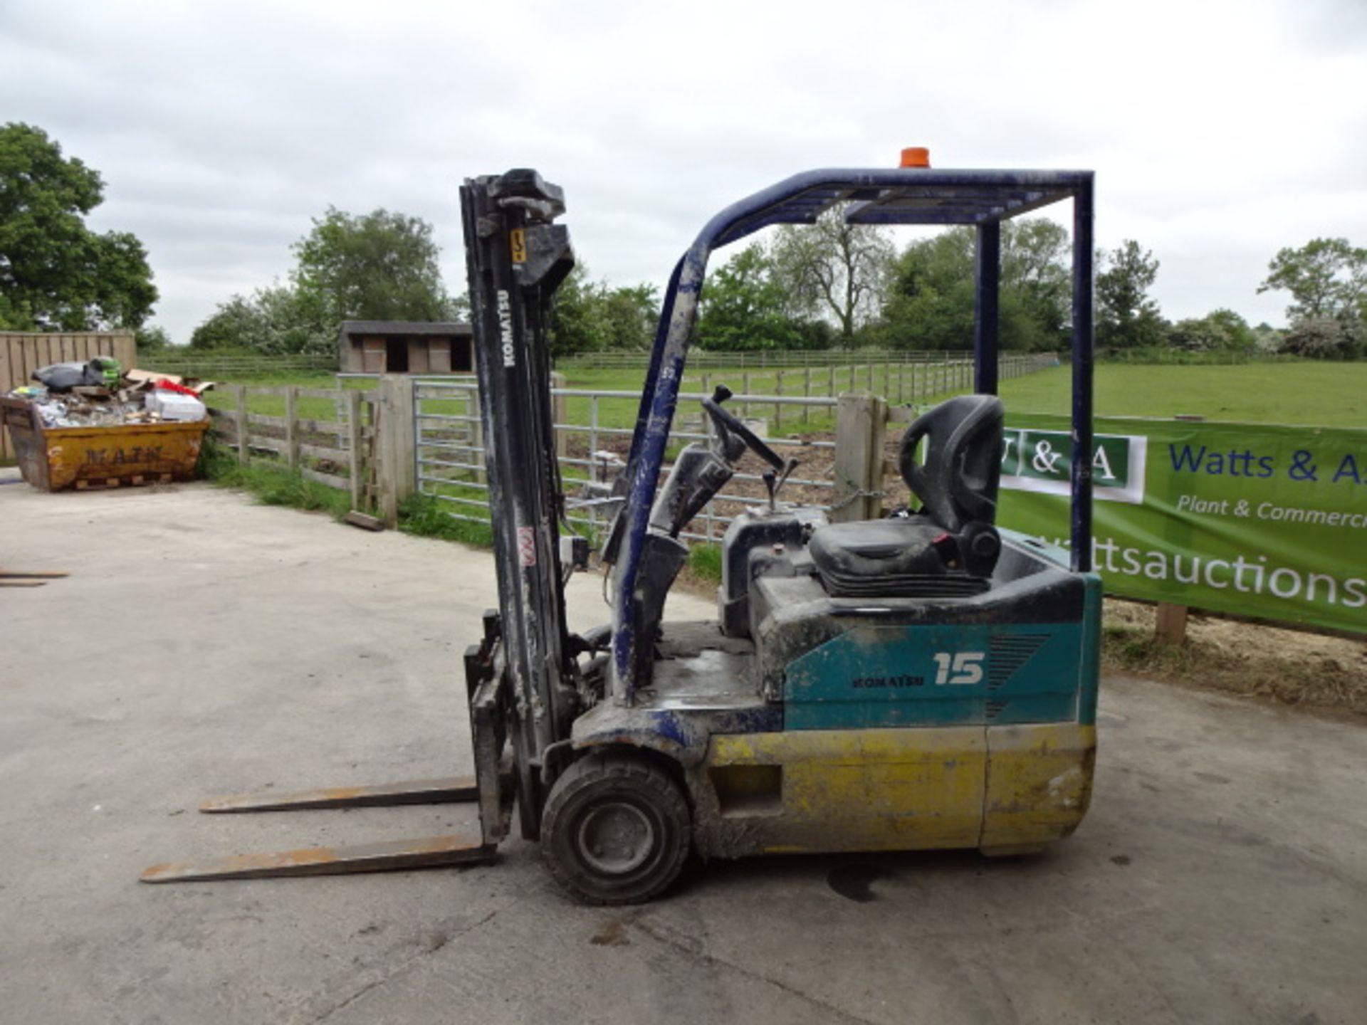
<svg viewBox="0 0 1367 1025">
<path fill-rule="evenodd" d="M 848 204 L 852 224 L 973 226 L 976 290 L 973 327 L 975 391 L 997 394 L 998 290 L 1003 220 L 1055 202 L 1073 201 L 1073 411 L 1072 569 L 1092 562 L 1092 210 L 1091 171 L 938 171 L 931 168 L 807 171 L 726 208 L 707 223 L 675 265 L 660 312 L 651 366 L 641 392 L 627 456 L 629 481 L 622 545 L 614 570 L 610 693 L 632 704 L 633 649 L 652 638 L 636 636 L 632 601 L 664 462 L 684 361 L 697 321 L 697 301 L 712 250 L 774 224 L 812 224 L 827 209 Z"/>
</svg>

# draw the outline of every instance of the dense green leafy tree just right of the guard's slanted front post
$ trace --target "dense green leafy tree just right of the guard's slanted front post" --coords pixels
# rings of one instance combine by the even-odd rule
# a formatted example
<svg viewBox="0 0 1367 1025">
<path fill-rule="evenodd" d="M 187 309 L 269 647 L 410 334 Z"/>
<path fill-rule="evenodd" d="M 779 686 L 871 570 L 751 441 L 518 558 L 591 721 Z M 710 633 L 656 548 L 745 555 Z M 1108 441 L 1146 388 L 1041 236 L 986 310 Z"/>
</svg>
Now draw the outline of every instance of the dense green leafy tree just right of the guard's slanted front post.
<svg viewBox="0 0 1367 1025">
<path fill-rule="evenodd" d="M 797 348 L 800 321 L 786 312 L 789 288 L 774 261 L 750 243 L 708 275 L 703 286 L 697 343 L 714 353 Z"/>
</svg>

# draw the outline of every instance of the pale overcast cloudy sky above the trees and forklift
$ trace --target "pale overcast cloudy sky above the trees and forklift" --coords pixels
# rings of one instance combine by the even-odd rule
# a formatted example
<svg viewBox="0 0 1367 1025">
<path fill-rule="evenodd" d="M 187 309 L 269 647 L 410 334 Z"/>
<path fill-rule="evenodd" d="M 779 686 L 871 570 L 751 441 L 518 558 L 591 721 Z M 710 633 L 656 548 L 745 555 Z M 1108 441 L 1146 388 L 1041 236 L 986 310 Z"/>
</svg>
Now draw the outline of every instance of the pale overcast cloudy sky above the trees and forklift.
<svg viewBox="0 0 1367 1025">
<path fill-rule="evenodd" d="M 782 12 L 782 14 L 779 14 Z M 327 206 L 436 227 L 536 167 L 595 276 L 663 283 L 708 216 L 815 167 L 1089 168 L 1163 314 L 1256 295 L 1281 246 L 1367 245 L 1367 0 L 0 0 L 0 120 L 105 179 L 176 342 L 284 279 Z"/>
</svg>

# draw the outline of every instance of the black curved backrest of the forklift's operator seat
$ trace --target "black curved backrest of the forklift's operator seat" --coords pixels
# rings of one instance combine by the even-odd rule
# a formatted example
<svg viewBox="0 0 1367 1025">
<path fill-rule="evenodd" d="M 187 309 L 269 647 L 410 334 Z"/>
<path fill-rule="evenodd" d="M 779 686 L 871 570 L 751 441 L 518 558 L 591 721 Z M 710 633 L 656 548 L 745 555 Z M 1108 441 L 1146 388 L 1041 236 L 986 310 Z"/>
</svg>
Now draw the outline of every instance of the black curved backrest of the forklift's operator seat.
<svg viewBox="0 0 1367 1025">
<path fill-rule="evenodd" d="M 902 478 L 923 511 L 946 530 L 997 521 L 1003 417 L 995 395 L 960 395 L 923 413 L 902 436 Z M 925 462 L 917 463 L 923 437 Z"/>
</svg>

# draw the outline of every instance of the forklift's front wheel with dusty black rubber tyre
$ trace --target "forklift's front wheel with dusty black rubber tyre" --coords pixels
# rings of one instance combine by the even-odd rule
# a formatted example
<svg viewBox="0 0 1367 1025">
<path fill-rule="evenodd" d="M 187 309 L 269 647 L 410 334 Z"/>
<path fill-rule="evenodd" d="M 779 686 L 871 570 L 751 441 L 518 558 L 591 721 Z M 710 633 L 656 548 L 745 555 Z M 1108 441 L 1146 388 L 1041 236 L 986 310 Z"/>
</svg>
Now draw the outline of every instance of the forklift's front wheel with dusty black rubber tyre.
<svg viewBox="0 0 1367 1025">
<path fill-rule="evenodd" d="M 588 849 L 595 839 L 618 847 L 601 858 L 601 847 Z M 659 897 L 678 877 L 690 842 L 692 815 L 678 783 L 632 754 L 580 758 L 555 780 L 541 815 L 545 865 L 582 903 Z"/>
</svg>

